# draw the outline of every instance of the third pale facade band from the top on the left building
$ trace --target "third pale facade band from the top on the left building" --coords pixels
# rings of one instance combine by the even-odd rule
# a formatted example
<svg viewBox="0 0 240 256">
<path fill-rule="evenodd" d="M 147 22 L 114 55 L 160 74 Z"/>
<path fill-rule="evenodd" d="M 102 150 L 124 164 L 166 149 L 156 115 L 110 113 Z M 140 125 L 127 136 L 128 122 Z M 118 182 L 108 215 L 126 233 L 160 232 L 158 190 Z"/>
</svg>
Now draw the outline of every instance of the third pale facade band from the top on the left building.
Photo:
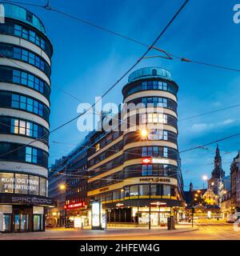
<svg viewBox="0 0 240 256">
<path fill-rule="evenodd" d="M 29 87 L 18 86 L 14 83 L 0 82 L 0 90 L 8 90 L 11 92 L 16 92 L 18 94 L 25 94 L 26 96 L 35 98 L 36 100 L 42 102 L 48 108 L 50 108 L 49 100 L 46 97 L 44 97 L 42 94 L 38 93 L 36 90 L 31 90 Z"/>
</svg>

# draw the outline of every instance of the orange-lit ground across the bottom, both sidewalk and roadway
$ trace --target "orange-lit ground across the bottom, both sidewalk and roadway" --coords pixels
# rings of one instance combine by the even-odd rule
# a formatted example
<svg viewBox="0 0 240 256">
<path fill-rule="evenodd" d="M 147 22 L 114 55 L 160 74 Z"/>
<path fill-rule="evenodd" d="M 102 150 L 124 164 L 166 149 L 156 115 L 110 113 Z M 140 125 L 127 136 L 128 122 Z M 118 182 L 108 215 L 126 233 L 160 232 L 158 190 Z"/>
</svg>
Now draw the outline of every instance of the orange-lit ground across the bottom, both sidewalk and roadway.
<svg viewBox="0 0 240 256">
<path fill-rule="evenodd" d="M 108 230 L 50 229 L 46 232 L 0 234 L 0 240 L 240 240 L 240 231 L 223 220 L 199 219 L 191 225 L 166 228 L 109 228 Z"/>
</svg>

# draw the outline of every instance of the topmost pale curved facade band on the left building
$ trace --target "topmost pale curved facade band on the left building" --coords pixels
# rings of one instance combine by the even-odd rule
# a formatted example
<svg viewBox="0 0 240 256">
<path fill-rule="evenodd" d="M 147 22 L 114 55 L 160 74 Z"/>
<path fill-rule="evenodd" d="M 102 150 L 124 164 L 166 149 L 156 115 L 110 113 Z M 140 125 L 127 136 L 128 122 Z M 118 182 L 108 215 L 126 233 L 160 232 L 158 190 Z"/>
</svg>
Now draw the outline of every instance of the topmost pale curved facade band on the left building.
<svg viewBox="0 0 240 256">
<path fill-rule="evenodd" d="M 39 46 L 34 45 L 34 43 L 26 41 L 25 39 L 14 37 L 7 34 L 1 34 L 0 42 L 10 43 L 15 46 L 21 46 L 28 50 L 33 51 L 35 54 L 41 56 L 49 66 L 51 66 L 50 58 L 46 55 L 44 50 L 42 50 Z"/>
</svg>

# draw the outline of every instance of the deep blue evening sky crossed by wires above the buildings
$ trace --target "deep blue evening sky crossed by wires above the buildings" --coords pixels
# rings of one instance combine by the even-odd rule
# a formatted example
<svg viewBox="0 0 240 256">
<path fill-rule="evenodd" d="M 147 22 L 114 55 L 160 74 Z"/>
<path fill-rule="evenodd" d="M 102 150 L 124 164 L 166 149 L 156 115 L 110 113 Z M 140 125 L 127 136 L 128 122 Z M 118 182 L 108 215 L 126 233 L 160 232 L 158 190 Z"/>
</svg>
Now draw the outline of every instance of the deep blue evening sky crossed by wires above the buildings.
<svg viewBox="0 0 240 256">
<path fill-rule="evenodd" d="M 28 0 L 44 4 L 46 1 Z M 51 5 L 110 30 L 142 42 L 153 42 L 183 0 L 52 0 Z M 240 24 L 233 22 L 233 6 L 240 0 L 190 1 L 157 46 L 172 54 L 197 61 L 240 68 Z M 115 37 L 61 14 L 25 6 L 42 19 L 54 45 L 51 94 L 51 130 L 77 115 L 78 101 L 58 90 L 74 94 L 82 102 L 94 102 L 128 69 L 143 51 L 126 39 Z M 151 55 L 158 52 L 151 52 Z M 178 117 L 186 118 L 240 103 L 240 73 L 162 58 L 143 60 L 138 68 L 161 66 L 178 82 Z M 122 102 L 120 82 L 103 102 Z M 240 131 L 239 107 L 178 122 L 179 150 L 202 145 Z M 50 163 L 68 154 L 85 136 L 72 122 L 50 136 Z M 56 143 L 61 142 L 61 144 Z M 181 154 L 185 189 L 190 181 L 202 186 L 202 175 L 210 177 L 214 150 L 192 150 Z M 240 137 L 219 143 L 223 168 L 240 149 Z"/>
</svg>

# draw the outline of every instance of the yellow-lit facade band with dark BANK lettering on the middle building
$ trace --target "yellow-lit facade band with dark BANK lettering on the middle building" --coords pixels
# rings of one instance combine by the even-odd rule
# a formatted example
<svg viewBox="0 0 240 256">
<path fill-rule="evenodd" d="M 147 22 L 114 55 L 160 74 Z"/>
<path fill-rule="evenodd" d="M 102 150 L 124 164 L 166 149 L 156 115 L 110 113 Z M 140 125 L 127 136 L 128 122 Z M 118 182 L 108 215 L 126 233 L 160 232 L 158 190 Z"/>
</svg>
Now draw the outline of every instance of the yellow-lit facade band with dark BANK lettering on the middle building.
<svg viewBox="0 0 240 256">
<path fill-rule="evenodd" d="M 178 181 L 176 178 L 167 178 L 167 177 L 151 177 L 151 176 L 144 176 L 144 177 L 134 177 L 134 178 L 126 178 L 122 182 L 118 182 L 116 184 L 105 186 L 97 190 L 91 190 L 87 192 L 87 196 L 93 196 L 95 194 L 101 194 L 105 192 L 109 192 L 111 190 L 120 190 L 124 186 L 130 185 L 142 185 L 142 184 L 164 184 L 164 185 L 173 185 L 177 186 Z"/>
</svg>

